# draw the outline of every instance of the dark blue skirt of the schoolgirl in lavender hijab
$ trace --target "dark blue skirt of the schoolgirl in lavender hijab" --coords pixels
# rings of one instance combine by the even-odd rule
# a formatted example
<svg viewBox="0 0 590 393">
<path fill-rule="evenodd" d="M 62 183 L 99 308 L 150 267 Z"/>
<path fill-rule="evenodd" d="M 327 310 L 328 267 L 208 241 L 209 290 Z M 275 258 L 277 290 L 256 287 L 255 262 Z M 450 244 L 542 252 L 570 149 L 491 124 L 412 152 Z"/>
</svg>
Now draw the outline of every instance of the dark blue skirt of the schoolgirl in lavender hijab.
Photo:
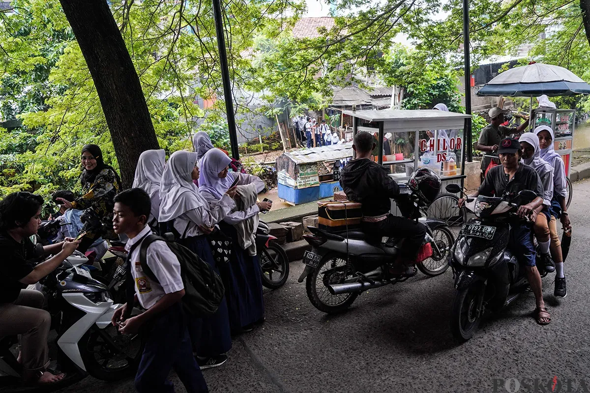
<svg viewBox="0 0 590 393">
<path fill-rule="evenodd" d="M 260 262 L 257 256 L 250 256 L 242 250 L 233 226 L 222 222 L 219 227 L 232 239 L 230 262 L 219 264 L 218 267 L 225 286 L 231 329 L 240 331 L 244 326 L 264 318 Z"/>
</svg>

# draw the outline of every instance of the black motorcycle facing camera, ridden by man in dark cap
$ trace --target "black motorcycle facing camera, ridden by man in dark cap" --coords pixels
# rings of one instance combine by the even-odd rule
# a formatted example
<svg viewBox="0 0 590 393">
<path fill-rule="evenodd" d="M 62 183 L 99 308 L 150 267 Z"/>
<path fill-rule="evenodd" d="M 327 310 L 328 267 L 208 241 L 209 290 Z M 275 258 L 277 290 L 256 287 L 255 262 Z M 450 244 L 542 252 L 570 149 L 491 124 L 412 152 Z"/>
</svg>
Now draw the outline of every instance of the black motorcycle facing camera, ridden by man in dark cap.
<svg viewBox="0 0 590 393">
<path fill-rule="evenodd" d="M 447 191 L 463 193 L 457 184 Z M 473 337 L 484 311 L 499 311 L 529 288 L 526 270 L 507 246 L 516 210 L 535 197 L 524 190 L 513 198 L 467 198 L 465 207 L 476 217 L 461 227 L 450 261 L 455 278 L 451 331 L 458 341 Z"/>
</svg>

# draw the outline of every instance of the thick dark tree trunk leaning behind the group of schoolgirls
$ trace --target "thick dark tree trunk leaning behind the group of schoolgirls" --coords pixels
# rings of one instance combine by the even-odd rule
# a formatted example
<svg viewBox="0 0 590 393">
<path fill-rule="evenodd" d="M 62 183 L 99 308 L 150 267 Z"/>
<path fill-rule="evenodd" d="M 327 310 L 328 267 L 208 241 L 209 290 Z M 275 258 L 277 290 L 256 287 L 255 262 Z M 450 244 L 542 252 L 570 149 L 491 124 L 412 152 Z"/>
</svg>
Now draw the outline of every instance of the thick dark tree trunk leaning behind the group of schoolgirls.
<svg viewBox="0 0 590 393">
<path fill-rule="evenodd" d="M 106 0 L 60 2 L 99 94 L 123 187 L 130 187 L 139 155 L 159 148 L 139 77 Z"/>
</svg>

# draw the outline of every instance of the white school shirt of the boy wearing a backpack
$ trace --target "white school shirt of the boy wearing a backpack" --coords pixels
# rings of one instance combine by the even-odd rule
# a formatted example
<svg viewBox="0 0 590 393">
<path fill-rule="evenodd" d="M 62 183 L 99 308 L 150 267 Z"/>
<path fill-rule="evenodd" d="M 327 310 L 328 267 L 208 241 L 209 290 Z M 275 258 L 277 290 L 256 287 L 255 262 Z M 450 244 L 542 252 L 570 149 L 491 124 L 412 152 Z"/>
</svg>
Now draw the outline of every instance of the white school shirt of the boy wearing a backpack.
<svg viewBox="0 0 590 393">
<path fill-rule="evenodd" d="M 146 225 L 142 232 L 139 232 L 137 236 L 127 241 L 125 245 L 127 252 L 129 252 L 131 246 L 142 240 L 143 236 L 149 233 L 152 233 L 152 230 Z M 181 265 L 178 262 L 178 258 L 165 242 L 156 240 L 149 245 L 146 252 L 146 262 L 159 282 L 150 279 L 143 272 L 139 260 L 139 250 L 141 247 L 141 244 L 135 247 L 135 250 L 129 256 L 129 263 L 131 264 L 131 275 L 133 276 L 133 281 L 135 281 L 137 299 L 139 299 L 139 303 L 143 308 L 149 309 L 158 303 L 158 300 L 162 299 L 162 296 L 166 295 L 166 293 L 178 292 L 184 289 L 184 285 L 182 283 Z"/>
</svg>

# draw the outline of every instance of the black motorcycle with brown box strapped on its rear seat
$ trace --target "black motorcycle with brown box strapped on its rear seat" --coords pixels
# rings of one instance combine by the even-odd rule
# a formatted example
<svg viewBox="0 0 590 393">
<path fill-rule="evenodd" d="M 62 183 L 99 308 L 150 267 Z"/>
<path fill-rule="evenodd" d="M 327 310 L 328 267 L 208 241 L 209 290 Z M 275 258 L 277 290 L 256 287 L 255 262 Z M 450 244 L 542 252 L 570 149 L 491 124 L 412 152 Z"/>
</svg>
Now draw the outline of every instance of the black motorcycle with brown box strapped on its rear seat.
<svg viewBox="0 0 590 393">
<path fill-rule="evenodd" d="M 399 187 L 396 203 L 402 215 L 425 224 L 427 228 L 422 247 L 430 247 L 431 256 L 417 267 L 425 275 L 441 275 L 448 268 L 453 232 L 444 221 L 422 217 L 427 204 L 407 185 L 399 184 Z M 408 279 L 408 276 L 392 276 L 388 272 L 403 239 L 389 239 L 382 243 L 381 238 L 371 239 L 359 230 L 328 232 L 312 226 L 308 229 L 312 234 L 303 237 L 312 250 L 304 253 L 306 266 L 299 282 L 306 280 L 307 297 L 318 310 L 326 313 L 345 311 L 361 292 Z"/>
</svg>

